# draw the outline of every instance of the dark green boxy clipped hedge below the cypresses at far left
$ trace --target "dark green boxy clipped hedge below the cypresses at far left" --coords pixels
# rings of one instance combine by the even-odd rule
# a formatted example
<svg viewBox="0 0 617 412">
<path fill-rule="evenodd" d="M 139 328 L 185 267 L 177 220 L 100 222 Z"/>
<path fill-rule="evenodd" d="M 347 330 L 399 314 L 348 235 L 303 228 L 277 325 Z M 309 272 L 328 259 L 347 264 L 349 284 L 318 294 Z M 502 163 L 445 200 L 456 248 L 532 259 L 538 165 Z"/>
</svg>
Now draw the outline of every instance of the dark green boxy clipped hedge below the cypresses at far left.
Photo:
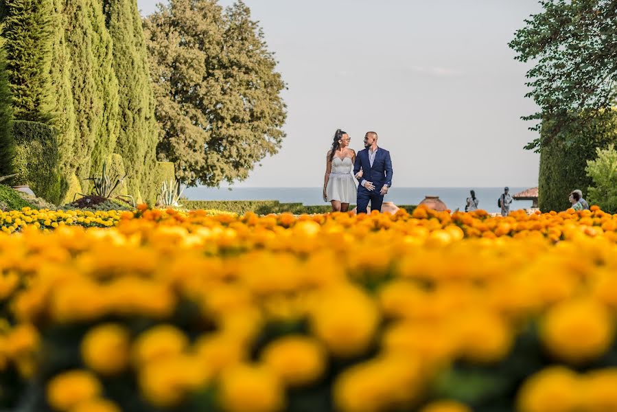
<svg viewBox="0 0 617 412">
<path fill-rule="evenodd" d="M 54 128 L 38 122 L 16 121 L 15 139 L 16 185 L 28 185 L 36 194 L 51 203 L 60 203 L 58 145 Z"/>
</svg>

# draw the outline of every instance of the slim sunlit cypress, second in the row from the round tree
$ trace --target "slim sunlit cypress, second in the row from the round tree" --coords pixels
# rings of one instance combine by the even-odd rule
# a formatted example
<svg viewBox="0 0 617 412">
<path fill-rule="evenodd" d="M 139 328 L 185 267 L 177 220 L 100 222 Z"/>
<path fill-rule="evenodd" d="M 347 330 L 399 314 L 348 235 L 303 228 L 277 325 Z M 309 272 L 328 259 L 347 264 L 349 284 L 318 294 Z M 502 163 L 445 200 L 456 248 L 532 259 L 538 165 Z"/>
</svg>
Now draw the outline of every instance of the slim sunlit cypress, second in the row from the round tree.
<svg viewBox="0 0 617 412">
<path fill-rule="evenodd" d="M 116 147 L 119 131 L 118 80 L 113 69 L 113 44 L 105 26 L 105 16 L 99 0 L 88 0 L 92 25 L 94 82 L 101 108 L 100 125 L 95 134 L 91 155 L 91 175 L 100 174 L 103 163 Z"/>
</svg>

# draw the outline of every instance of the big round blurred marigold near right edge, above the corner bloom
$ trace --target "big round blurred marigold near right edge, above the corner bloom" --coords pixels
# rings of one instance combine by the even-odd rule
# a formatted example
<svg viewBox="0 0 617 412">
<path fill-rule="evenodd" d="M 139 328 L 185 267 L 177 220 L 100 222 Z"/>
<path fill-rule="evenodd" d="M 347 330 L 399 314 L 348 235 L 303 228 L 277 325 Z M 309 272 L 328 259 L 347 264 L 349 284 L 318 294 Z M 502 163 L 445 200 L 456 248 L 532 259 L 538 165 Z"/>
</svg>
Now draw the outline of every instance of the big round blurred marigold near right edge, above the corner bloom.
<svg viewBox="0 0 617 412">
<path fill-rule="evenodd" d="M 605 354 L 612 345 L 611 313 L 592 299 L 573 299 L 548 310 L 540 330 L 548 350 L 572 363 L 582 363 Z"/>
</svg>

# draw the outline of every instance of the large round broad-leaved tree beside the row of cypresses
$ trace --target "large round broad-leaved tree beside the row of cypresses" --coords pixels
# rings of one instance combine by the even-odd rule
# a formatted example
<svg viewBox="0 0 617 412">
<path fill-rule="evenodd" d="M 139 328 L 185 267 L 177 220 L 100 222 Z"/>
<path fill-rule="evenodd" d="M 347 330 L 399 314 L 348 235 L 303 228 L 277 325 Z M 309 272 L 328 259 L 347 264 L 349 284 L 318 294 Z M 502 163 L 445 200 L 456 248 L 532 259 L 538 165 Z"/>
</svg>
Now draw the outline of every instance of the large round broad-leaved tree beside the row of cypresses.
<svg viewBox="0 0 617 412">
<path fill-rule="evenodd" d="M 188 185 L 246 179 L 280 148 L 286 119 L 285 83 L 248 7 L 171 0 L 144 27 L 159 159 L 174 162 Z"/>
</svg>

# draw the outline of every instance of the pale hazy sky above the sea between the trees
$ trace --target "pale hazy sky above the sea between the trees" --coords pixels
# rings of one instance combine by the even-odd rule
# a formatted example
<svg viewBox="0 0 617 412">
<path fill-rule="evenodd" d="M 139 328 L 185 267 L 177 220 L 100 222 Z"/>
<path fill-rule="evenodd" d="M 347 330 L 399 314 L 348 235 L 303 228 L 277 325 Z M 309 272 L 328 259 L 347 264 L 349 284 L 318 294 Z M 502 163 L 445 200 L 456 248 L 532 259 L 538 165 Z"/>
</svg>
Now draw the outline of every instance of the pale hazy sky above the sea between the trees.
<svg viewBox="0 0 617 412">
<path fill-rule="evenodd" d="M 138 0 L 144 14 L 154 0 Z M 229 5 L 231 0 L 221 0 Z M 288 83 L 288 137 L 235 187 L 318 187 L 336 128 L 391 151 L 399 187 L 533 186 L 528 66 L 507 43 L 537 0 L 245 0 Z"/>
</svg>

